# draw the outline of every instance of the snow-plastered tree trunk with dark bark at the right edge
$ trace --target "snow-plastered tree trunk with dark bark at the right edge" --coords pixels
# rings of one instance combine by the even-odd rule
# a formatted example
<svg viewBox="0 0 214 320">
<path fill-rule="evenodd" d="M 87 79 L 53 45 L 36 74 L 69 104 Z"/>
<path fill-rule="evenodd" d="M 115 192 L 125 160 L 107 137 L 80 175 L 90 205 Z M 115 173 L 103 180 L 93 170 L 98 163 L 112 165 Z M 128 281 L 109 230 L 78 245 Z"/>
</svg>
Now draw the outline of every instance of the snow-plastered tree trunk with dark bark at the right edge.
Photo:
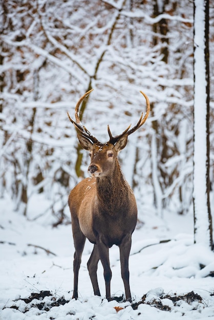
<svg viewBox="0 0 214 320">
<path fill-rule="evenodd" d="M 194 1 L 194 234 L 213 248 L 209 202 L 209 0 Z"/>
</svg>

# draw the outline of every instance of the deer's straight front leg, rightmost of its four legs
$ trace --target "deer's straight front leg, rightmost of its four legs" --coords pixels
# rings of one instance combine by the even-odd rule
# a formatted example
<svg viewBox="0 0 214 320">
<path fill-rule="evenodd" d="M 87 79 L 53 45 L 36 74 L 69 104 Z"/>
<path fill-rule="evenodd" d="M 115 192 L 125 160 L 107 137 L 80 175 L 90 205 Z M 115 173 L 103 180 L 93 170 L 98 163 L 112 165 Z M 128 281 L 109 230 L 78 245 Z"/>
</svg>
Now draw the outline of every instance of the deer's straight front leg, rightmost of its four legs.
<svg viewBox="0 0 214 320">
<path fill-rule="evenodd" d="M 132 236 L 130 234 L 126 235 L 119 248 L 120 248 L 120 265 L 121 265 L 121 276 L 125 288 L 125 298 L 126 300 L 132 301 L 131 291 L 130 291 L 130 271 L 129 271 L 129 257 L 132 245 Z"/>
</svg>

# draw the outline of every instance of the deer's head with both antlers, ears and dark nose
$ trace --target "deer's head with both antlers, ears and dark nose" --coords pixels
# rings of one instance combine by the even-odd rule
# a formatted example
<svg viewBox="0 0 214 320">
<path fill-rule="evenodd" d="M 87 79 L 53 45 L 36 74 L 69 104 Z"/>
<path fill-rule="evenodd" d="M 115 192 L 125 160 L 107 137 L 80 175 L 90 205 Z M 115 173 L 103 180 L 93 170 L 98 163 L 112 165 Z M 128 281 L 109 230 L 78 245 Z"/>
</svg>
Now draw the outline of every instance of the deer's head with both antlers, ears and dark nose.
<svg viewBox="0 0 214 320">
<path fill-rule="evenodd" d="M 121 134 L 113 136 L 109 125 L 108 125 L 108 133 L 110 140 L 106 142 L 105 144 L 100 143 L 94 135 L 92 135 L 85 126 L 82 125 L 80 118 L 79 118 L 79 106 L 83 99 L 87 97 L 93 89 L 89 90 L 87 93 L 85 93 L 77 102 L 76 108 L 75 108 L 75 119 L 74 121 L 69 113 L 68 117 L 69 120 L 74 124 L 76 130 L 77 130 L 77 136 L 79 139 L 79 143 L 81 147 L 85 150 L 90 151 L 90 157 L 91 157 L 91 164 L 88 168 L 89 173 L 91 176 L 94 177 L 101 177 L 101 176 L 106 176 L 109 175 L 110 172 L 113 171 L 114 165 L 116 163 L 116 158 L 119 153 L 123 148 L 125 148 L 126 143 L 127 143 L 127 138 L 128 136 L 135 132 L 137 129 L 139 129 L 146 121 L 149 115 L 149 100 L 148 97 L 140 91 L 140 93 L 144 96 L 146 100 L 146 113 L 145 116 L 143 117 L 143 112 L 141 113 L 140 119 L 138 123 L 133 127 L 130 128 L 127 127 Z"/>
</svg>

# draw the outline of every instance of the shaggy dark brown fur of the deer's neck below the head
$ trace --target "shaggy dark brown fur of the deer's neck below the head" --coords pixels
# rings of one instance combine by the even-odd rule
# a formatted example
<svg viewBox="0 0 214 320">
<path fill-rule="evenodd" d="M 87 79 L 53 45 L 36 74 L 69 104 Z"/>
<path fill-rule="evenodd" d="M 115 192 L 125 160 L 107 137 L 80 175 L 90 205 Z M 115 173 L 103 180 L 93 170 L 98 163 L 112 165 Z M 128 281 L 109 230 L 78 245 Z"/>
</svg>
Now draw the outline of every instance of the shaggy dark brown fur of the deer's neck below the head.
<svg viewBox="0 0 214 320">
<path fill-rule="evenodd" d="M 96 183 L 100 209 L 111 215 L 123 211 L 129 198 L 130 187 L 124 179 L 118 161 L 112 174 L 97 178 Z"/>
</svg>

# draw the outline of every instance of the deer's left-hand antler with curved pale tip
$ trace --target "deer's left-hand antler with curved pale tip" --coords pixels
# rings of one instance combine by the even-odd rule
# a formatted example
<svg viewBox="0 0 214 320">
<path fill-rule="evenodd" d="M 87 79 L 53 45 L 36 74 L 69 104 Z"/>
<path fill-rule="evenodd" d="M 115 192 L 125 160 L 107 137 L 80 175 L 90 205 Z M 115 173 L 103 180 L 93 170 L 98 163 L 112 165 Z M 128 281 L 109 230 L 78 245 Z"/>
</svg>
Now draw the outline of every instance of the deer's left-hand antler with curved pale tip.
<svg viewBox="0 0 214 320">
<path fill-rule="evenodd" d="M 85 128 L 85 126 L 82 125 L 80 118 L 79 118 L 79 106 L 80 103 L 84 100 L 85 97 L 87 97 L 94 89 L 89 90 L 87 93 L 85 93 L 78 101 L 75 107 L 75 119 L 74 121 L 71 116 L 69 115 L 69 112 L 67 112 L 68 118 L 75 126 L 76 130 L 79 132 L 79 134 L 83 135 L 85 138 L 90 139 L 93 143 L 98 142 L 98 140 L 95 138 L 93 134 L 90 133 L 90 131 Z"/>
</svg>

